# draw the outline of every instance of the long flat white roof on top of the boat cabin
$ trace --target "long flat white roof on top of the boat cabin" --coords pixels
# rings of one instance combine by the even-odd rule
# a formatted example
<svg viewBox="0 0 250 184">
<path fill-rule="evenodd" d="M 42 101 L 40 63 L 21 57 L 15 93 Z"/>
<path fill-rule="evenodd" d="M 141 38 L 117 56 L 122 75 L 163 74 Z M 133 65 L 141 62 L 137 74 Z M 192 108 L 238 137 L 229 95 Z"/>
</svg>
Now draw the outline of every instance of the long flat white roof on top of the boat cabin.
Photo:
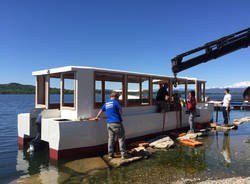
<svg viewBox="0 0 250 184">
<path fill-rule="evenodd" d="M 64 66 L 58 68 L 51 68 L 46 70 L 39 70 L 32 72 L 33 76 L 39 75 L 49 75 L 49 74 L 57 74 L 57 73 L 65 73 L 65 72 L 74 72 L 79 70 L 92 70 L 92 71 L 99 71 L 99 72 L 112 72 L 112 73 L 119 73 L 119 74 L 130 74 L 130 75 L 141 75 L 147 77 L 154 77 L 154 78 L 174 78 L 173 76 L 165 76 L 165 75 L 156 75 L 156 74 L 148 74 L 148 73 L 139 73 L 139 72 L 130 72 L 124 70 L 113 70 L 113 69 L 106 69 L 106 68 L 95 68 L 95 67 L 88 67 L 88 66 Z M 205 80 L 198 80 L 196 78 L 190 77 L 177 77 L 177 79 L 189 80 L 189 81 L 201 81 L 206 82 Z"/>
</svg>

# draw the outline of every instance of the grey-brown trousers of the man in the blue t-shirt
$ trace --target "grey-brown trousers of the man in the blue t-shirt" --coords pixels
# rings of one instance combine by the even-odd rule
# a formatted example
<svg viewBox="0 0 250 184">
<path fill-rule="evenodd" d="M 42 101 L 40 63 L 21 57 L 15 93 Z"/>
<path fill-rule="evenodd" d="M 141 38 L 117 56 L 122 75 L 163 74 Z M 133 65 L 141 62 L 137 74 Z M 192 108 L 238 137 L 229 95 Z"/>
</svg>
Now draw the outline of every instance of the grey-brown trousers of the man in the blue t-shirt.
<svg viewBox="0 0 250 184">
<path fill-rule="evenodd" d="M 107 124 L 108 129 L 108 155 L 113 156 L 114 155 L 114 144 L 115 144 L 115 138 L 118 138 L 119 141 L 119 147 L 122 155 L 126 154 L 126 147 L 125 147 L 125 131 L 123 124 L 118 123 L 108 123 Z"/>
</svg>

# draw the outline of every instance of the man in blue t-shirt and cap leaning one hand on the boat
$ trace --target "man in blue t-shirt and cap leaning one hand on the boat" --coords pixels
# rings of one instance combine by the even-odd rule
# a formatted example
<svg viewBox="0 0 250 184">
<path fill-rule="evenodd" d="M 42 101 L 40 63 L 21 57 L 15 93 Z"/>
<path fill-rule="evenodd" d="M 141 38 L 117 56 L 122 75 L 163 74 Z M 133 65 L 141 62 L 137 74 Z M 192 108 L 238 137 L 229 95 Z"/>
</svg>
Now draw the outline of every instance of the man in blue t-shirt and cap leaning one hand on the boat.
<svg viewBox="0 0 250 184">
<path fill-rule="evenodd" d="M 114 158 L 114 143 L 115 137 L 117 136 L 119 141 L 119 147 L 121 151 L 122 158 L 127 157 L 126 148 L 125 148 L 125 131 L 122 124 L 122 108 L 118 102 L 119 93 L 112 92 L 111 99 L 107 101 L 102 109 L 96 116 L 96 120 L 99 119 L 103 111 L 106 111 L 107 114 L 107 129 L 108 129 L 108 155 L 109 158 Z"/>
</svg>

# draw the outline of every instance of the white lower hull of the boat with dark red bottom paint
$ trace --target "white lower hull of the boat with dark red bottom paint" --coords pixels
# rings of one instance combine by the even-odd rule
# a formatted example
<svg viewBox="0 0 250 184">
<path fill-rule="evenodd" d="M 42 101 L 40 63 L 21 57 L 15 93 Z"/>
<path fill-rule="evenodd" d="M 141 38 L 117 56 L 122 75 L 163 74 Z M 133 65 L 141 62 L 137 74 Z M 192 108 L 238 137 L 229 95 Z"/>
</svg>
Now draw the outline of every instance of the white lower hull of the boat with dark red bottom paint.
<svg viewBox="0 0 250 184">
<path fill-rule="evenodd" d="M 213 119 L 213 106 L 199 106 L 199 123 L 208 123 Z M 154 106 L 129 107 L 124 109 L 123 125 L 127 140 L 150 136 L 169 130 L 188 127 L 188 114 L 182 109 L 182 121 L 178 111 L 155 113 Z M 49 114 L 49 115 L 48 115 Z M 56 114 L 56 115 L 55 115 Z M 165 116 L 165 118 L 163 118 Z M 25 118 L 24 118 L 25 117 Z M 165 119 L 165 122 L 164 122 Z M 58 160 L 79 154 L 97 154 L 106 151 L 108 133 L 105 115 L 98 121 L 63 120 L 58 112 L 47 113 L 42 119 L 41 139 L 49 143 L 50 157 Z M 19 138 L 32 137 L 35 133 L 27 114 L 18 118 Z"/>
</svg>

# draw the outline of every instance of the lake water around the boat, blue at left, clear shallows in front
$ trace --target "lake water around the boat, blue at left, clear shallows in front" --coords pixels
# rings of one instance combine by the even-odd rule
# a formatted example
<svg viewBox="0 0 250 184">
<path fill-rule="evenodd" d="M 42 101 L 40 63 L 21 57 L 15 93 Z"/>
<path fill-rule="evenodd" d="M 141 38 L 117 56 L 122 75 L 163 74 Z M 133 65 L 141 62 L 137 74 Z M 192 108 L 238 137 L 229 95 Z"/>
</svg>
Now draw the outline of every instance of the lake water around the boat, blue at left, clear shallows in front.
<svg viewBox="0 0 250 184">
<path fill-rule="evenodd" d="M 72 160 L 58 162 L 55 166 L 50 162 L 47 150 L 33 156 L 27 153 L 27 148 L 18 150 L 17 114 L 29 112 L 34 107 L 34 99 L 34 95 L 0 95 L 1 184 L 27 175 L 35 178 L 31 181 L 37 182 L 40 178 L 38 183 L 43 183 L 42 176 L 56 177 L 55 183 L 165 183 L 180 178 L 250 176 L 250 144 L 244 143 L 250 139 L 250 123 L 239 126 L 228 135 L 210 133 L 201 139 L 204 143 L 201 147 L 177 145 L 168 151 L 157 152 L 150 159 L 118 169 L 103 169 L 95 174 L 79 173 L 66 167 Z M 250 111 L 231 113 L 232 120 L 245 116 L 250 116 Z M 222 122 L 221 114 L 219 121 Z"/>
</svg>

